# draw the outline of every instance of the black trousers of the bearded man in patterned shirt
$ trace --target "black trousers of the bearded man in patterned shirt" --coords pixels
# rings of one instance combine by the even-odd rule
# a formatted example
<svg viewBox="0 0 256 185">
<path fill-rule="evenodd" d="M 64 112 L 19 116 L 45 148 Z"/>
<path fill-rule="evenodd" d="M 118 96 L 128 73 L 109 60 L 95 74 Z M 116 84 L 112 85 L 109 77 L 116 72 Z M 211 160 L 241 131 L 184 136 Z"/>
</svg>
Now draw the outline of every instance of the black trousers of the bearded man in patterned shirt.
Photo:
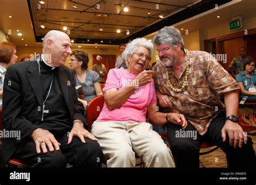
<svg viewBox="0 0 256 185">
<path fill-rule="evenodd" d="M 252 139 L 248 137 L 247 144 L 243 144 L 242 148 L 234 148 L 233 146 L 230 146 L 228 136 L 226 141 L 223 142 L 223 139 L 221 138 L 221 129 L 225 122 L 226 113 L 220 112 L 217 117 L 212 120 L 210 127 L 208 127 L 208 131 L 203 136 L 198 133 L 196 127 L 188 122 L 186 131 L 196 132 L 197 137 L 194 138 L 177 137 L 177 132 L 179 132 L 180 129 L 182 130 L 181 126 L 172 123 L 167 124 L 167 136 L 176 166 L 178 168 L 198 168 L 200 143 L 202 140 L 207 139 L 225 152 L 228 167 L 255 168 L 256 161 Z"/>
</svg>

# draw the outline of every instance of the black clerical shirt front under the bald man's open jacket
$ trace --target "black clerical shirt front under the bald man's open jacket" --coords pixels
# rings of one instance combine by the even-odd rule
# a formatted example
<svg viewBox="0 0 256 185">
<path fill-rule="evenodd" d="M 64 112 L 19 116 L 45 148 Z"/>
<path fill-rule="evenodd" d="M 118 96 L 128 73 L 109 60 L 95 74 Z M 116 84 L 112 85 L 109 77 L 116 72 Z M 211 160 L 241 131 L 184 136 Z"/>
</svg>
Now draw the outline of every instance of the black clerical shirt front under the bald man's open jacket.
<svg viewBox="0 0 256 185">
<path fill-rule="evenodd" d="M 60 87 L 58 67 L 52 70 L 52 67 L 46 65 L 43 61 L 40 61 L 39 64 L 43 87 L 43 101 L 47 97 L 53 77 L 50 94 L 45 101 L 44 108 L 45 110 L 49 110 L 49 113 L 44 113 L 43 121 L 41 121 L 39 127 L 50 131 L 54 135 L 63 135 L 65 132 L 69 132 L 72 126 L 69 121 L 69 108 L 65 103 L 64 95 Z"/>
</svg>

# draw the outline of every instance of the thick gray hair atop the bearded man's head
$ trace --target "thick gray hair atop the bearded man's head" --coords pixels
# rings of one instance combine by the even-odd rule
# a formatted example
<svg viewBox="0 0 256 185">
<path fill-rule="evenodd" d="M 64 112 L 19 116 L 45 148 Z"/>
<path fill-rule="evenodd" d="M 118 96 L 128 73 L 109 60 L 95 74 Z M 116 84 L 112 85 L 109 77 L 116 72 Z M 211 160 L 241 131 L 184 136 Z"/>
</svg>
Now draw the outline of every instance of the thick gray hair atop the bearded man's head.
<svg viewBox="0 0 256 185">
<path fill-rule="evenodd" d="M 170 44 L 172 46 L 177 46 L 177 44 L 180 43 L 181 47 L 184 48 L 184 41 L 180 31 L 174 26 L 165 26 L 162 28 L 156 36 L 154 36 L 153 43 L 156 45 Z"/>
</svg>

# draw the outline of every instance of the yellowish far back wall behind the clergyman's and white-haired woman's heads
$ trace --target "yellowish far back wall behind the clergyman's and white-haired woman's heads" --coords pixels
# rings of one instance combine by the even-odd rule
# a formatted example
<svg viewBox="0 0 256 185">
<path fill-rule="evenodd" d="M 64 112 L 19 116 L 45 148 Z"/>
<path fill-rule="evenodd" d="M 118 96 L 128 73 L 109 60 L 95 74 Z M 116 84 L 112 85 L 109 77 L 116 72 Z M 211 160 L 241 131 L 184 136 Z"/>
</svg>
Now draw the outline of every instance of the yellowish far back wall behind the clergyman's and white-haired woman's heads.
<svg viewBox="0 0 256 185">
<path fill-rule="evenodd" d="M 107 47 L 104 47 L 107 48 Z M 100 49 L 86 49 L 86 48 L 75 48 L 72 47 L 72 51 L 73 50 L 84 50 L 88 53 L 89 55 L 89 64 L 88 64 L 88 68 L 91 69 L 92 68 L 92 54 L 115 54 L 116 57 L 119 56 L 119 51 L 118 51 L 118 46 L 116 47 L 117 49 L 113 49 L 113 47 L 111 47 L 110 49 L 107 49 L 107 52 L 104 51 L 100 51 Z M 40 47 L 17 47 L 17 56 L 18 56 L 18 61 L 20 61 L 23 57 L 25 56 L 30 56 L 31 54 L 34 55 L 34 53 L 36 52 L 36 54 L 40 54 L 42 53 L 42 46 Z M 70 58 L 70 57 L 69 57 Z M 65 65 L 69 67 L 69 58 L 66 60 Z M 113 63 L 116 63 L 116 61 L 113 61 Z"/>
</svg>

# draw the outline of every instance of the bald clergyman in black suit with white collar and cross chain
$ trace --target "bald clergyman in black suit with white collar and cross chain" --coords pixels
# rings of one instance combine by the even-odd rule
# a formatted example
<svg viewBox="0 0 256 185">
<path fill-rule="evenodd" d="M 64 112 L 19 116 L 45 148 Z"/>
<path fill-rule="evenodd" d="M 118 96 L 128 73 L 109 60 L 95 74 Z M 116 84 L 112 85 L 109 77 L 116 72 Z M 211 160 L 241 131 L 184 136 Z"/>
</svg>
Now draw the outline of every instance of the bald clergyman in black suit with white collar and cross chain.
<svg viewBox="0 0 256 185">
<path fill-rule="evenodd" d="M 70 53 L 69 36 L 52 30 L 44 37 L 40 57 L 6 71 L 3 128 L 21 137 L 3 138 L 3 166 L 11 157 L 31 167 L 101 166 L 102 150 L 86 131 L 83 105 L 64 66 Z"/>
</svg>

